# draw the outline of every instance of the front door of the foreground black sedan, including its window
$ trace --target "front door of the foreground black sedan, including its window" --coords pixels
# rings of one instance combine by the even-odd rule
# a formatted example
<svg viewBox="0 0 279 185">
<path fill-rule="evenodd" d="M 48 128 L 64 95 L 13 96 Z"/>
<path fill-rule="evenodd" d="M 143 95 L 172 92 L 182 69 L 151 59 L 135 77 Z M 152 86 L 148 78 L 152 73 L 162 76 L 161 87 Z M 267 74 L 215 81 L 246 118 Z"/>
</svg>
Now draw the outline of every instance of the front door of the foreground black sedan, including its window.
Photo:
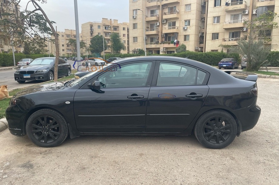
<svg viewBox="0 0 279 185">
<path fill-rule="evenodd" d="M 101 73 L 77 90 L 74 97 L 77 129 L 144 132 L 154 66 L 154 61 L 127 63 Z M 101 83 L 100 90 L 88 87 L 93 80 Z"/>
</svg>

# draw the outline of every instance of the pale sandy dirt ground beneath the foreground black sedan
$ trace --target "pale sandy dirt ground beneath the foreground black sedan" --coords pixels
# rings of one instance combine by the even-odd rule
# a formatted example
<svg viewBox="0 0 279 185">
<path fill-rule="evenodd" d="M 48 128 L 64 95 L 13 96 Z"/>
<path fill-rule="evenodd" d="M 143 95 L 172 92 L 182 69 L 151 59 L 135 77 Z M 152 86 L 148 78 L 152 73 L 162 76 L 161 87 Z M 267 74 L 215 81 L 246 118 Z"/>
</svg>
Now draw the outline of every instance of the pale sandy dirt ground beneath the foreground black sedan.
<svg viewBox="0 0 279 185">
<path fill-rule="evenodd" d="M 279 184 L 279 79 L 261 79 L 261 117 L 221 150 L 195 136 L 81 136 L 55 148 L 0 133 L 0 184 Z"/>
</svg>

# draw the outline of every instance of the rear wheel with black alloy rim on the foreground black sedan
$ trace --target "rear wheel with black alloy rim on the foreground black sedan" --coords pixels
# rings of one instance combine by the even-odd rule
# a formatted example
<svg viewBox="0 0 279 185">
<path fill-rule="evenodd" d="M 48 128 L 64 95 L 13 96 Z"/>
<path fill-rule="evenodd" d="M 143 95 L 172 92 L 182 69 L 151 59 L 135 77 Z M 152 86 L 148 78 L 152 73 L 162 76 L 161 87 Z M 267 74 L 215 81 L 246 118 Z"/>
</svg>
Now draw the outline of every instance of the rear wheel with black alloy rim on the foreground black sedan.
<svg viewBox="0 0 279 185">
<path fill-rule="evenodd" d="M 224 110 L 210 110 L 197 120 L 194 133 L 203 146 L 220 149 L 233 142 L 237 134 L 237 123 L 234 117 Z"/>
</svg>

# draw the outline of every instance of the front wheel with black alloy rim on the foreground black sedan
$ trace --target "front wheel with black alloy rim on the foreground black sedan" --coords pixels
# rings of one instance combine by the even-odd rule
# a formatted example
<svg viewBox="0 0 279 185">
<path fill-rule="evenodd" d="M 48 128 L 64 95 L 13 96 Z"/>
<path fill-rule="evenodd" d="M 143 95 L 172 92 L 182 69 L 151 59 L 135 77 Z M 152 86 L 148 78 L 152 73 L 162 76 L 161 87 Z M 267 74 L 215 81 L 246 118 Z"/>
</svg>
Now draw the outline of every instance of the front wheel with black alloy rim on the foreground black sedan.
<svg viewBox="0 0 279 185">
<path fill-rule="evenodd" d="M 54 147 L 67 138 L 69 130 L 60 113 L 52 109 L 40 109 L 27 120 L 26 134 L 38 146 Z"/>
</svg>

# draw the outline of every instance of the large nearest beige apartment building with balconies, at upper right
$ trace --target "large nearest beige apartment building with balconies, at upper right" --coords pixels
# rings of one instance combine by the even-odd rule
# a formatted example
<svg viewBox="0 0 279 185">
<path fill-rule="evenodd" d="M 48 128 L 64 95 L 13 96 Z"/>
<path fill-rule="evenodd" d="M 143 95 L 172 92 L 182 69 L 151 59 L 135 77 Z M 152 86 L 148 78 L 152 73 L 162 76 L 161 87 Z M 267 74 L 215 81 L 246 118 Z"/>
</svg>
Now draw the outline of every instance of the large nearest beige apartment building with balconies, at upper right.
<svg viewBox="0 0 279 185">
<path fill-rule="evenodd" d="M 227 51 L 247 35 L 244 20 L 267 10 L 279 12 L 274 0 L 129 0 L 129 52 L 174 53 L 176 45 L 190 51 Z M 276 20 L 275 20 L 276 21 Z M 278 21 L 277 21 L 278 22 Z M 265 30 L 272 50 L 279 49 L 277 29 Z"/>
</svg>

